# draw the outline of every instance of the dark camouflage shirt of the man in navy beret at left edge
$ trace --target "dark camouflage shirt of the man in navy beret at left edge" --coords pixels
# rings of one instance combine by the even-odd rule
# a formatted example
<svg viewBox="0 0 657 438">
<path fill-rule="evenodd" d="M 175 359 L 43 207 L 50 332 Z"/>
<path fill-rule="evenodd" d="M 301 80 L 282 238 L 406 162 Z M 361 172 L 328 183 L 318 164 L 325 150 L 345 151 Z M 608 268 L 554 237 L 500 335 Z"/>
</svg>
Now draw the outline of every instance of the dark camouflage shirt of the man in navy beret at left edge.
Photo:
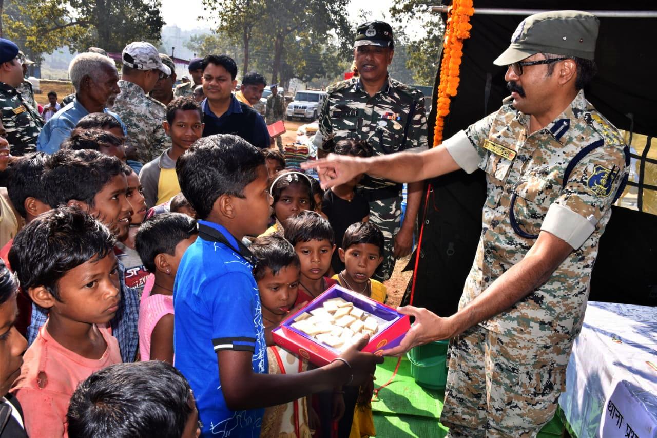
<svg viewBox="0 0 657 438">
<path fill-rule="evenodd" d="M 43 128 L 39 113 L 26 103 L 24 97 L 11 85 L 0 82 L 0 107 L 2 123 L 7 131 L 11 155 L 20 156 L 34 152 L 37 137 Z"/>
</svg>

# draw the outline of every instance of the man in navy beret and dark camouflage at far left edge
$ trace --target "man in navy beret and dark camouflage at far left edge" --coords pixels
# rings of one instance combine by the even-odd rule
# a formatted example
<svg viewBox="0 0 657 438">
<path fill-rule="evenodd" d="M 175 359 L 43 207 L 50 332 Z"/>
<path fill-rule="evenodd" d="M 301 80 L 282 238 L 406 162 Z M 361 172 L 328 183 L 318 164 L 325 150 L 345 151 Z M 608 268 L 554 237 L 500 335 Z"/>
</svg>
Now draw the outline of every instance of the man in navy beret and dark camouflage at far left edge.
<svg viewBox="0 0 657 438">
<path fill-rule="evenodd" d="M 34 152 L 43 128 L 39 113 L 16 90 L 23 81 L 23 68 L 18 60 L 18 46 L 0 38 L 0 109 L 12 155 Z"/>
</svg>

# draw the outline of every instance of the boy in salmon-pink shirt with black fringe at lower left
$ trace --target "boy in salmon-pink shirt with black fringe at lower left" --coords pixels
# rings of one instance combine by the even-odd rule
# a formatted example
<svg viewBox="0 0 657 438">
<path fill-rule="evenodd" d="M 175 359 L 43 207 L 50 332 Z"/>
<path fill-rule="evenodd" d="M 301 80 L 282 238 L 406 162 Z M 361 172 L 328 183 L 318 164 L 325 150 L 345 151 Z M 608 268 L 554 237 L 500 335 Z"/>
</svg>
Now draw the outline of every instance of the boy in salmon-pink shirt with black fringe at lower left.
<svg viewBox="0 0 657 438">
<path fill-rule="evenodd" d="M 22 230 L 9 260 L 23 290 L 49 317 L 24 354 L 11 392 L 30 406 L 32 437 L 64 435 L 66 410 L 78 383 L 121 362 L 106 326 L 120 302 L 114 236 L 89 214 L 62 207 L 41 214 Z"/>
</svg>

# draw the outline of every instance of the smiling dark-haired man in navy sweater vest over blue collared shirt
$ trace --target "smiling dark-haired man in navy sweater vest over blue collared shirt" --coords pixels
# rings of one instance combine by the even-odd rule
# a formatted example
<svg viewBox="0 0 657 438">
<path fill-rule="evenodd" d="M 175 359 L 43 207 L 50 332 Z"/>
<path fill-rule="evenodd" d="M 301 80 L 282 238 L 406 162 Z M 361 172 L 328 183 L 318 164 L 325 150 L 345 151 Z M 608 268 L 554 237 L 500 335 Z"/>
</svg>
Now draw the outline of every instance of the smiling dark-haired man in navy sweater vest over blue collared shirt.
<svg viewBox="0 0 657 438">
<path fill-rule="evenodd" d="M 205 114 L 203 136 L 235 134 L 255 147 L 269 149 L 271 141 L 265 120 L 233 95 L 237 85 L 235 61 L 226 55 L 209 55 L 203 59 L 202 68 L 206 95 L 201 103 Z"/>
</svg>

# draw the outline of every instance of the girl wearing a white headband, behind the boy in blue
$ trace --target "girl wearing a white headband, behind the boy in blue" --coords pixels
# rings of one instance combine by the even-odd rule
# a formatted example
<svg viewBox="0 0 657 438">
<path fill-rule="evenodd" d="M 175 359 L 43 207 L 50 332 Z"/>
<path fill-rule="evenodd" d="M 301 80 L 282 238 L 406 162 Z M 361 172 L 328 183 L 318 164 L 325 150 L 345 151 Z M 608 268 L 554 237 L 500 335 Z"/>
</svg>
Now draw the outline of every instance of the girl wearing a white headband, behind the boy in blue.
<svg viewBox="0 0 657 438">
<path fill-rule="evenodd" d="M 275 224 L 263 235 L 283 235 L 284 223 L 301 210 L 314 210 L 313 185 L 306 174 L 296 170 L 283 170 L 272 179 L 269 193 L 274 198 Z"/>
</svg>

